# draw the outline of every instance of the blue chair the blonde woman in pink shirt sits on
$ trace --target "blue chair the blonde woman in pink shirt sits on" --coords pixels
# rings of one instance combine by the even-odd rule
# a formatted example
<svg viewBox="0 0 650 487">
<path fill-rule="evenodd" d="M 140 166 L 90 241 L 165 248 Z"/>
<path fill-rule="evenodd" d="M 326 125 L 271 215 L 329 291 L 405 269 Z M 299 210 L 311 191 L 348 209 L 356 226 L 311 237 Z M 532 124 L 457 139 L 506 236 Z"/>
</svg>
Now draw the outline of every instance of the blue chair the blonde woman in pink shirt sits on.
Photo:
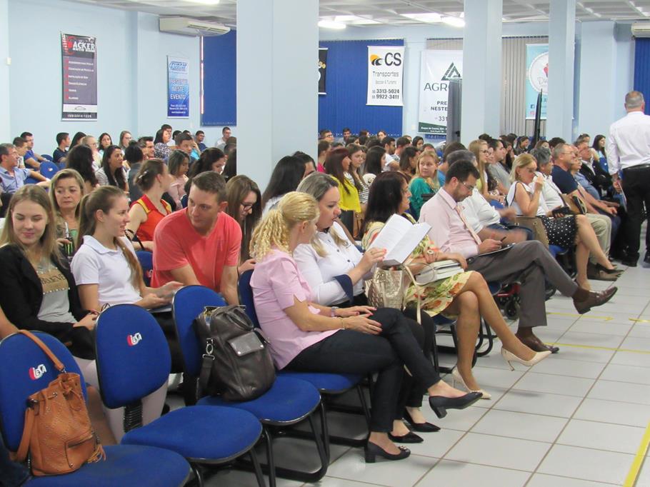
<svg viewBox="0 0 650 487">
<path fill-rule="evenodd" d="M 246 314 L 251 318 L 253 324 L 259 328 L 259 320 L 255 311 L 253 301 L 253 289 L 251 288 L 251 276 L 253 271 L 246 271 L 239 276 L 239 296 L 241 303 L 246 306 Z M 323 372 L 296 372 L 296 371 L 279 371 L 281 376 L 301 378 L 310 382 L 319 390 L 321 395 L 339 396 L 339 394 L 356 388 L 361 402 L 361 411 L 366 418 L 366 424 L 370 428 L 370 410 L 366 402 L 366 396 L 361 388 L 361 376 L 354 373 L 323 373 Z M 321 402 L 321 424 L 323 427 L 323 441 L 329 457 L 329 442 L 349 446 L 364 446 L 366 439 L 355 440 L 354 438 L 345 438 L 342 436 L 330 436 L 327 430 L 326 405 Z"/>
</svg>

